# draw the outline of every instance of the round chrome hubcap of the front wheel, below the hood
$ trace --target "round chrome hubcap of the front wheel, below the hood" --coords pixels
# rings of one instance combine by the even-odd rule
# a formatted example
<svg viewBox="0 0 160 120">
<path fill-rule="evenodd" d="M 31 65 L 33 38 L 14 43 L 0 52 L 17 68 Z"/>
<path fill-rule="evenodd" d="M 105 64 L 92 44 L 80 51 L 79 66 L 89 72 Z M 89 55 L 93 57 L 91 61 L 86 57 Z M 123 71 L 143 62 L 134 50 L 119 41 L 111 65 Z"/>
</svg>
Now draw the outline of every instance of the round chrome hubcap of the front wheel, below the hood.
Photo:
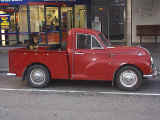
<svg viewBox="0 0 160 120">
<path fill-rule="evenodd" d="M 120 74 L 120 82 L 125 87 L 133 87 L 138 82 L 138 76 L 134 71 L 126 70 Z"/>
</svg>

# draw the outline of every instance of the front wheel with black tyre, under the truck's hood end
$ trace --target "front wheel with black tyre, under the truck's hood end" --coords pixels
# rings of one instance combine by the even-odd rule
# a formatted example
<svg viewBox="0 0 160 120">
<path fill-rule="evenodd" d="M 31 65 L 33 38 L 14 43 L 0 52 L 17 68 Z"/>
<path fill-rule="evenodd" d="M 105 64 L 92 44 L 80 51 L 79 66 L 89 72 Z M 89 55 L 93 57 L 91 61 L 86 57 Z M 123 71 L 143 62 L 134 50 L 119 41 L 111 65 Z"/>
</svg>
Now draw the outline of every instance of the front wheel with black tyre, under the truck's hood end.
<svg viewBox="0 0 160 120">
<path fill-rule="evenodd" d="M 142 74 L 135 67 L 125 66 L 116 74 L 116 85 L 120 90 L 137 90 L 141 84 Z"/>
</svg>

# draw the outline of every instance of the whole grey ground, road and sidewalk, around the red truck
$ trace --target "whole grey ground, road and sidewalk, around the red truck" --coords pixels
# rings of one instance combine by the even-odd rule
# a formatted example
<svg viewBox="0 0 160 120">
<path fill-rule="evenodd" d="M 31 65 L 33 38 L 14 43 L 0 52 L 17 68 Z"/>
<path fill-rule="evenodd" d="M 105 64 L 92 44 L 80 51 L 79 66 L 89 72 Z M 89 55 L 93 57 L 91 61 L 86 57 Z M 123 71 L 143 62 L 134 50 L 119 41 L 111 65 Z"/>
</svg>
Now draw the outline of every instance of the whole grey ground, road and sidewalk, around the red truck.
<svg viewBox="0 0 160 120">
<path fill-rule="evenodd" d="M 160 45 L 143 45 L 160 68 Z M 8 49 L 0 69 L 8 69 Z M 1 49 L 0 49 L 1 51 Z M 160 69 L 159 69 L 160 70 Z M 139 91 L 123 92 L 104 81 L 54 81 L 33 89 L 21 78 L 0 76 L 0 120 L 158 120 L 160 80 L 145 80 Z"/>
</svg>

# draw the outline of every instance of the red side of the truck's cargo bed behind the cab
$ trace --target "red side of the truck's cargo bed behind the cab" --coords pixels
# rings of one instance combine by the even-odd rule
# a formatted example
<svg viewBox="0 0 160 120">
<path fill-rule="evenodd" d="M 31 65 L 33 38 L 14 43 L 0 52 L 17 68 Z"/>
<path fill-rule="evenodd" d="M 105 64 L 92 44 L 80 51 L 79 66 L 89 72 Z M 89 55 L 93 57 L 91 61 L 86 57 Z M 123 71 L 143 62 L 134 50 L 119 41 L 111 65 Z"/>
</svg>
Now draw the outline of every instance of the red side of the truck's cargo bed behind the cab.
<svg viewBox="0 0 160 120">
<path fill-rule="evenodd" d="M 9 51 L 9 72 L 23 76 L 28 67 L 41 64 L 48 68 L 52 79 L 68 79 L 68 54 L 62 50 L 18 48 Z"/>
</svg>

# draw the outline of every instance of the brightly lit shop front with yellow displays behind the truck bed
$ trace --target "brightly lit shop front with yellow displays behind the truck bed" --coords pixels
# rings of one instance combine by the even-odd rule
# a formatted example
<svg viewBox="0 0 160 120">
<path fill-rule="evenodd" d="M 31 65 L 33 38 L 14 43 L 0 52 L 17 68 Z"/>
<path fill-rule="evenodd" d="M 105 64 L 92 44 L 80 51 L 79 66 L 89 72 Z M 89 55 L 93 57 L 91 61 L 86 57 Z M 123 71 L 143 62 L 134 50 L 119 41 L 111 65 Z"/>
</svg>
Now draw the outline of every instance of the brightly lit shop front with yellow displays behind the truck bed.
<svg viewBox="0 0 160 120">
<path fill-rule="evenodd" d="M 32 33 L 40 44 L 59 44 L 68 30 L 88 27 L 89 0 L 0 0 L 0 46 L 23 46 Z"/>
</svg>

